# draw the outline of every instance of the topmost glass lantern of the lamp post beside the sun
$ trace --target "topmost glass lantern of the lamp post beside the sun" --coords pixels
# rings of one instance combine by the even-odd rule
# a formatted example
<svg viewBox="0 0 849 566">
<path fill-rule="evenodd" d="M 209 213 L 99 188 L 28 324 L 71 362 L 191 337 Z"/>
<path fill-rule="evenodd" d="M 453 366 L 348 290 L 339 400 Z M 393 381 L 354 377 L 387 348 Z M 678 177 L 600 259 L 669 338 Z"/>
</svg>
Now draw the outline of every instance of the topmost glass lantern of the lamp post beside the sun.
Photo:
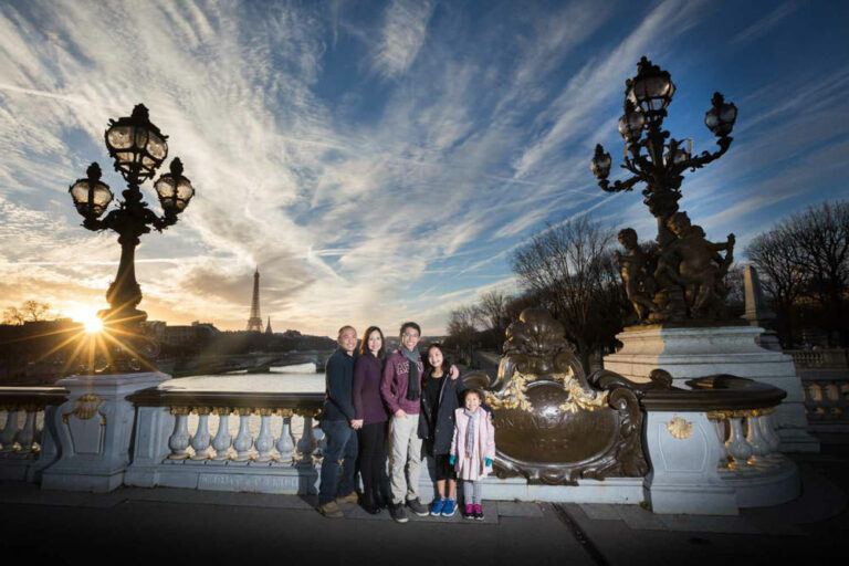
<svg viewBox="0 0 849 566">
<path fill-rule="evenodd" d="M 168 137 L 150 123 L 143 104 L 136 105 L 129 117 L 109 120 L 105 137 L 115 169 L 127 180 L 135 177 L 142 182 L 153 178 L 168 156 Z"/>
</svg>

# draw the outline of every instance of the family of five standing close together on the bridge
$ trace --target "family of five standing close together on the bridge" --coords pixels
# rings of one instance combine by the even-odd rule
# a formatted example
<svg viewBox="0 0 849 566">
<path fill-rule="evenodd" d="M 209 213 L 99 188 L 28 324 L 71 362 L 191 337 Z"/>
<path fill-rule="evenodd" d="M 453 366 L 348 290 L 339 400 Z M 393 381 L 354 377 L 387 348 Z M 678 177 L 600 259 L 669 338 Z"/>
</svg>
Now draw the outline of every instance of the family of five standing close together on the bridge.
<svg viewBox="0 0 849 566">
<path fill-rule="evenodd" d="M 357 348 L 357 331 L 339 328 L 339 347 L 327 360 L 322 430 L 326 448 L 318 488 L 318 511 L 342 517 L 337 503 L 357 503 L 357 471 L 363 507 L 389 509 L 406 523 L 405 507 L 419 516 L 452 516 L 457 482 L 462 480 L 463 514 L 483 520 L 481 481 L 492 471 L 495 431 L 484 394 L 467 388 L 442 346 L 417 348 L 421 328 L 403 323 L 397 352 L 386 354 L 384 333 L 370 326 Z M 388 440 L 388 442 L 387 442 Z M 381 479 L 389 452 L 389 484 Z M 419 500 L 422 448 L 432 459 L 437 493 L 428 510 Z"/>
</svg>

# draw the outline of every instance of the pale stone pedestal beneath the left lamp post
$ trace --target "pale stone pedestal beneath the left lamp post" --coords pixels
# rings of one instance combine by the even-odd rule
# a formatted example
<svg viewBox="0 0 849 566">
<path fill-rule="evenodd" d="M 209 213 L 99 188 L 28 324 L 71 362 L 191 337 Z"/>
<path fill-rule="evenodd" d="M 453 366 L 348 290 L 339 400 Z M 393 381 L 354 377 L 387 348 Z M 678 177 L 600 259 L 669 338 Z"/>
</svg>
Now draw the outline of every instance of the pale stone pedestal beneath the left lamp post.
<svg viewBox="0 0 849 566">
<path fill-rule="evenodd" d="M 44 470 L 42 489 L 107 492 L 129 464 L 134 408 L 125 398 L 170 379 L 167 374 L 71 376 L 56 382 L 69 400 L 53 417 L 59 460 Z"/>
</svg>

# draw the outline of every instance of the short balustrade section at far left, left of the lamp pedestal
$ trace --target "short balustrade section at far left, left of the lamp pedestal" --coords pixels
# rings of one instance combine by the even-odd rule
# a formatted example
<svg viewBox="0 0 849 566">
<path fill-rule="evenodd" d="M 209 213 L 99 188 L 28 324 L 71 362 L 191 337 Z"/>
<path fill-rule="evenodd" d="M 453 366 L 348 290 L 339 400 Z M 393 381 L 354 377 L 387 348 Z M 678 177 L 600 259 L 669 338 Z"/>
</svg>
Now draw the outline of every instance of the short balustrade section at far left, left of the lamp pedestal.
<svg viewBox="0 0 849 566">
<path fill-rule="evenodd" d="M 0 387 L 0 478 L 35 481 L 53 463 L 56 447 L 44 428 L 66 399 L 62 387 Z"/>
</svg>

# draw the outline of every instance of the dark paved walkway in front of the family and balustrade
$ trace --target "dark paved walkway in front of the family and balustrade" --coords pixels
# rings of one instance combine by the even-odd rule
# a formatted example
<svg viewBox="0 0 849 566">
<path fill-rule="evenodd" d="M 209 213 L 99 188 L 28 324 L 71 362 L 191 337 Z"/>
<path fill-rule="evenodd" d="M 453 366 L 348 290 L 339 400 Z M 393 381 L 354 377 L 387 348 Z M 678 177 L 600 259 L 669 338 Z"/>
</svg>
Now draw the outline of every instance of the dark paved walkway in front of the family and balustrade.
<svg viewBox="0 0 849 566">
<path fill-rule="evenodd" d="M 484 502 L 486 520 L 398 525 L 345 505 L 327 520 L 307 497 L 175 489 L 108 494 L 0 482 L 0 556 L 61 564 L 410 565 L 806 563 L 846 555 L 849 437 L 794 455 L 804 494 L 740 516 L 656 515 L 635 505 Z M 10 562 L 11 564 L 11 562 Z"/>
</svg>

